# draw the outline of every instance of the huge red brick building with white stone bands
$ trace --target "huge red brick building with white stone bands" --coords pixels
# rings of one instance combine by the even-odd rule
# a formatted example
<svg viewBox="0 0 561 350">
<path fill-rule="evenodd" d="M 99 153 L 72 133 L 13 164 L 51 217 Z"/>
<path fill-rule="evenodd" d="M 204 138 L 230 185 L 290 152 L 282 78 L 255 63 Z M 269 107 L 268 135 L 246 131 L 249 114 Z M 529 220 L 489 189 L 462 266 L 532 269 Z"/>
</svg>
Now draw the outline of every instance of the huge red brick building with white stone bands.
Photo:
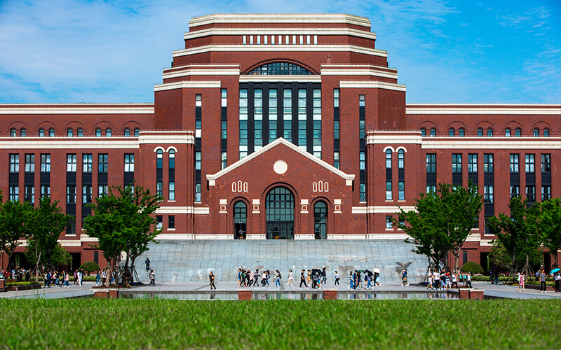
<svg viewBox="0 0 561 350">
<path fill-rule="evenodd" d="M 0 105 L 4 198 L 59 200 L 76 260 L 102 260 L 86 204 L 133 181 L 165 197 L 161 240 L 403 240 L 396 205 L 471 179 L 461 263 L 511 195 L 561 195 L 561 105 L 406 104 L 367 18 L 203 15 L 184 41 L 154 104 Z"/>
</svg>

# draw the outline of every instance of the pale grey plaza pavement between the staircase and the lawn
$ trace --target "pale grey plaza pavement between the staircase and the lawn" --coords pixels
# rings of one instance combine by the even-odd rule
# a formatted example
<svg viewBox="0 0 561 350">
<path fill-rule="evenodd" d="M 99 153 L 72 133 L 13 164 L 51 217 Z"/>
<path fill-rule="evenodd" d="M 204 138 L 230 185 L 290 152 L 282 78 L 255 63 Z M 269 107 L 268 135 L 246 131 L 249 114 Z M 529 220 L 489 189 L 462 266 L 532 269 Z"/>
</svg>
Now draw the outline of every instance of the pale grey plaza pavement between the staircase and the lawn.
<svg viewBox="0 0 561 350">
<path fill-rule="evenodd" d="M 320 289 L 311 288 L 299 288 L 297 281 L 295 281 L 294 286 L 287 286 L 286 280 L 283 280 L 280 288 L 273 286 L 269 287 L 255 287 L 251 288 L 254 293 L 322 293 L 325 288 L 337 289 L 339 293 L 434 293 L 439 292 L 426 290 L 424 286 L 417 286 L 412 283 L 410 286 L 401 286 L 398 281 L 392 281 L 388 283 L 382 283 L 381 286 L 374 287 L 370 290 L 349 290 L 349 283 L 347 281 L 342 281 L 341 286 L 333 286 L 332 281 L 327 281 L 327 285 L 322 286 Z M 21 299 L 21 298 L 46 298 L 46 299 L 58 299 L 58 298 L 72 298 L 72 297 L 86 297 L 93 295 L 92 287 L 95 285 L 93 282 L 84 282 L 83 286 L 73 286 L 70 288 L 65 287 L 52 287 L 52 288 L 41 288 L 39 290 L 20 290 L 20 291 L 9 291 L 0 293 L 0 297 L 11 298 L 11 299 Z M 240 288 L 236 282 L 218 282 L 216 283 L 217 290 L 214 293 L 231 293 L 235 294 L 240 289 L 250 289 L 247 287 Z M 507 286 L 507 285 L 494 285 L 488 282 L 473 282 L 473 287 L 477 289 L 484 289 L 485 295 L 490 297 L 504 297 L 509 299 L 550 299 L 550 298 L 561 298 L 561 293 L 548 292 L 541 294 L 539 290 L 527 289 L 525 293 L 518 292 L 518 286 Z M 122 290 L 121 293 L 125 294 L 150 294 L 150 293 L 165 293 L 167 295 L 181 294 L 181 293 L 200 293 L 207 294 L 210 293 L 210 288 L 208 283 L 205 282 L 186 282 L 186 283 L 171 283 L 162 282 L 156 283 L 156 286 L 136 286 L 130 289 Z M 402 297 L 407 297 L 406 295 L 401 295 Z"/>
</svg>

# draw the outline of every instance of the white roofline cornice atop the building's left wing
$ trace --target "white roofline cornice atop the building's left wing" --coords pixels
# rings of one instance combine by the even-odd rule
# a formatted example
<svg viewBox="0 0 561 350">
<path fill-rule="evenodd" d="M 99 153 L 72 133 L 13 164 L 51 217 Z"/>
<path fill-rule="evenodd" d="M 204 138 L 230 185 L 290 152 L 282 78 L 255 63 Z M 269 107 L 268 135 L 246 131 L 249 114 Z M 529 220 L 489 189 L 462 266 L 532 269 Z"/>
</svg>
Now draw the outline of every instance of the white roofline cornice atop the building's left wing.
<svg viewBox="0 0 561 350">
<path fill-rule="evenodd" d="M 101 107 L 100 104 L 79 104 L 76 106 L 1 104 L 0 114 L 154 114 L 154 104 L 138 104 L 138 106 L 130 107 L 102 105 Z"/>
</svg>

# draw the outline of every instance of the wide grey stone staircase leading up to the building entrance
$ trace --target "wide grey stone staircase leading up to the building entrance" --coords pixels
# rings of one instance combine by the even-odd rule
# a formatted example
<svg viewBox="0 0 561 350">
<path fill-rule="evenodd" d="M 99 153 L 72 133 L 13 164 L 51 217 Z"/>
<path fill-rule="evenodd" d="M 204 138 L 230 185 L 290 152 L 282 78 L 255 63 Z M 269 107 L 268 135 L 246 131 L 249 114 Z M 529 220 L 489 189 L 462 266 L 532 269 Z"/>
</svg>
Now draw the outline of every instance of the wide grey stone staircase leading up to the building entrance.
<svg viewBox="0 0 561 350">
<path fill-rule="evenodd" d="M 409 281 L 421 281 L 426 273 L 427 259 L 412 253 L 412 244 L 399 240 L 163 240 L 151 244 L 149 251 L 136 260 L 140 281 L 148 283 L 144 260 L 149 257 L 156 273 L 156 282 L 208 281 L 212 271 L 216 281 L 237 281 L 238 268 L 276 269 L 286 282 L 292 269 L 299 283 L 302 269 L 327 267 L 327 281 L 332 283 L 334 271 L 342 283 L 348 283 L 354 269 L 380 269 L 381 282 L 400 281 L 400 266 L 407 266 Z"/>
</svg>

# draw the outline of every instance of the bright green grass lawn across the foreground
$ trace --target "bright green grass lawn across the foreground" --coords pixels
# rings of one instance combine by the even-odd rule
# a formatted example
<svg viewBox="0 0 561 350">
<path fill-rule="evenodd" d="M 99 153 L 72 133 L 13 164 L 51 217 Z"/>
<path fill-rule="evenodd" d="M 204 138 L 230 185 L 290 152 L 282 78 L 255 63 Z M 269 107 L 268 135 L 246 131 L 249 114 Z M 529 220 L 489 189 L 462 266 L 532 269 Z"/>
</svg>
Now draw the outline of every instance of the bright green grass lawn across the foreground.
<svg viewBox="0 0 561 350">
<path fill-rule="evenodd" d="M 560 349 L 559 300 L 0 300 L 0 349 Z"/>
</svg>

